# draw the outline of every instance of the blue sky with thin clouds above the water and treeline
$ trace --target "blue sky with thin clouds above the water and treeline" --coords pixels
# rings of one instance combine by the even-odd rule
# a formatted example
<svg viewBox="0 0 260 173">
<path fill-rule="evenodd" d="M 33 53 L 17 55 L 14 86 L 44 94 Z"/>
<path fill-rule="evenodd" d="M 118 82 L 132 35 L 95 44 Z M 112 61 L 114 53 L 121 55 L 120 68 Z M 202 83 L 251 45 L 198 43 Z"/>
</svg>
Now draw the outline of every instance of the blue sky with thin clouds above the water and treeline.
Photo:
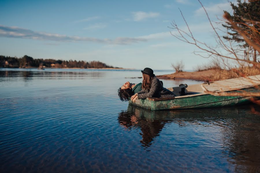
<svg viewBox="0 0 260 173">
<path fill-rule="evenodd" d="M 214 26 L 227 0 L 201 0 Z M 197 0 L 165 1 L 0 1 L 0 54 L 35 59 L 101 61 L 131 69 L 172 69 L 183 61 L 192 70 L 209 59 L 195 55 L 194 45 L 177 40 L 175 21 L 194 36 L 216 44 Z"/>
</svg>

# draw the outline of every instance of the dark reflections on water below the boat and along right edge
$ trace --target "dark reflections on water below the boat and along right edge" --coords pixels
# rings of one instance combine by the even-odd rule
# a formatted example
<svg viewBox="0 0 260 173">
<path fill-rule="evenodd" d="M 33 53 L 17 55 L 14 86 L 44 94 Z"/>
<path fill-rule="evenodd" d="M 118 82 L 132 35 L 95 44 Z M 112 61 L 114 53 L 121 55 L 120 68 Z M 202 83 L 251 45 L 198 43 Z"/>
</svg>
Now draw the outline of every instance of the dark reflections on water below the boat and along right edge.
<svg viewBox="0 0 260 173">
<path fill-rule="evenodd" d="M 193 127 L 197 131 L 205 127 L 210 130 L 215 126 L 220 129 L 218 134 L 220 138 L 214 136 L 214 133 L 203 132 L 202 138 L 207 141 L 204 141 L 205 143 L 200 141 L 200 145 L 208 145 L 209 141 L 213 145 L 220 139 L 223 142 L 222 154 L 228 158 L 229 163 L 235 165 L 235 172 L 257 172 L 260 167 L 260 117 L 248 114 L 245 108 L 248 109 L 248 106 L 232 109 L 226 107 L 152 111 L 129 105 L 127 111 L 118 114 L 118 122 L 123 128 L 129 130 L 140 128 L 142 136 L 140 143 L 146 151 L 151 151 L 149 146 L 156 145 L 156 138 L 164 129 L 167 131 L 166 124 L 174 123 L 184 128 Z M 188 140 L 192 142 L 198 140 L 202 134 L 184 135 L 189 136 Z M 179 138 L 186 140 L 185 136 Z M 168 141 L 167 138 L 162 140 Z"/>
</svg>

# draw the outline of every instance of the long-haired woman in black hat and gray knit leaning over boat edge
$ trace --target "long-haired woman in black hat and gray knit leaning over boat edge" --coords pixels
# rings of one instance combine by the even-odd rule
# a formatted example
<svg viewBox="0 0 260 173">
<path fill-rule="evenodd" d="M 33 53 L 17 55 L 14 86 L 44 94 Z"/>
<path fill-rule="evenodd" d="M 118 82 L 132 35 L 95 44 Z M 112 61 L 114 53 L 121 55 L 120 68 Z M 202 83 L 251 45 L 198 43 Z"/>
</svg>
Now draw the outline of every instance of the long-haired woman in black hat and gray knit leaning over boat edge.
<svg viewBox="0 0 260 173">
<path fill-rule="evenodd" d="M 147 97 L 174 97 L 174 93 L 164 88 L 159 79 L 153 74 L 153 70 L 145 68 L 141 70 L 143 73 L 142 90 L 131 97 L 131 101 L 136 99 L 145 99 Z"/>
</svg>

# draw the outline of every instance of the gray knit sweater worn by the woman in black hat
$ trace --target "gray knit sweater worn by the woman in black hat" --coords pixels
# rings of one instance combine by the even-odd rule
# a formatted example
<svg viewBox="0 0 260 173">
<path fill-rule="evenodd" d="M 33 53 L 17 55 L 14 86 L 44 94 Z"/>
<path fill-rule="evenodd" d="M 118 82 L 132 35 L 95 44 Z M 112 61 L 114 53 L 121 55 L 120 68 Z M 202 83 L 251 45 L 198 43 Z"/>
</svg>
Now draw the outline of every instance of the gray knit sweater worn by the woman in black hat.
<svg viewBox="0 0 260 173">
<path fill-rule="evenodd" d="M 155 97 L 155 98 L 162 98 L 162 97 L 174 97 L 174 93 L 170 90 L 164 88 L 159 79 L 156 76 L 153 77 L 151 82 L 150 90 L 142 89 L 138 92 L 138 99 L 145 99 L 147 97 Z"/>
</svg>

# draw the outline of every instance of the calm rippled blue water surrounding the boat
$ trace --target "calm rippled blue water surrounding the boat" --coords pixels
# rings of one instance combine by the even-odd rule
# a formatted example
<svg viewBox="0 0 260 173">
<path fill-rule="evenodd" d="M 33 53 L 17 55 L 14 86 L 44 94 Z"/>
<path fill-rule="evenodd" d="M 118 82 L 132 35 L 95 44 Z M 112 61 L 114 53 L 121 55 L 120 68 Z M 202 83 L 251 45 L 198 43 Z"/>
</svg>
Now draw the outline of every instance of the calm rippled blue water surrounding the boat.
<svg viewBox="0 0 260 173">
<path fill-rule="evenodd" d="M 0 69 L 0 172 L 260 170 L 256 105 L 177 111 L 128 106 L 117 89 L 141 82 L 131 78 L 140 76 L 136 70 Z"/>
</svg>

